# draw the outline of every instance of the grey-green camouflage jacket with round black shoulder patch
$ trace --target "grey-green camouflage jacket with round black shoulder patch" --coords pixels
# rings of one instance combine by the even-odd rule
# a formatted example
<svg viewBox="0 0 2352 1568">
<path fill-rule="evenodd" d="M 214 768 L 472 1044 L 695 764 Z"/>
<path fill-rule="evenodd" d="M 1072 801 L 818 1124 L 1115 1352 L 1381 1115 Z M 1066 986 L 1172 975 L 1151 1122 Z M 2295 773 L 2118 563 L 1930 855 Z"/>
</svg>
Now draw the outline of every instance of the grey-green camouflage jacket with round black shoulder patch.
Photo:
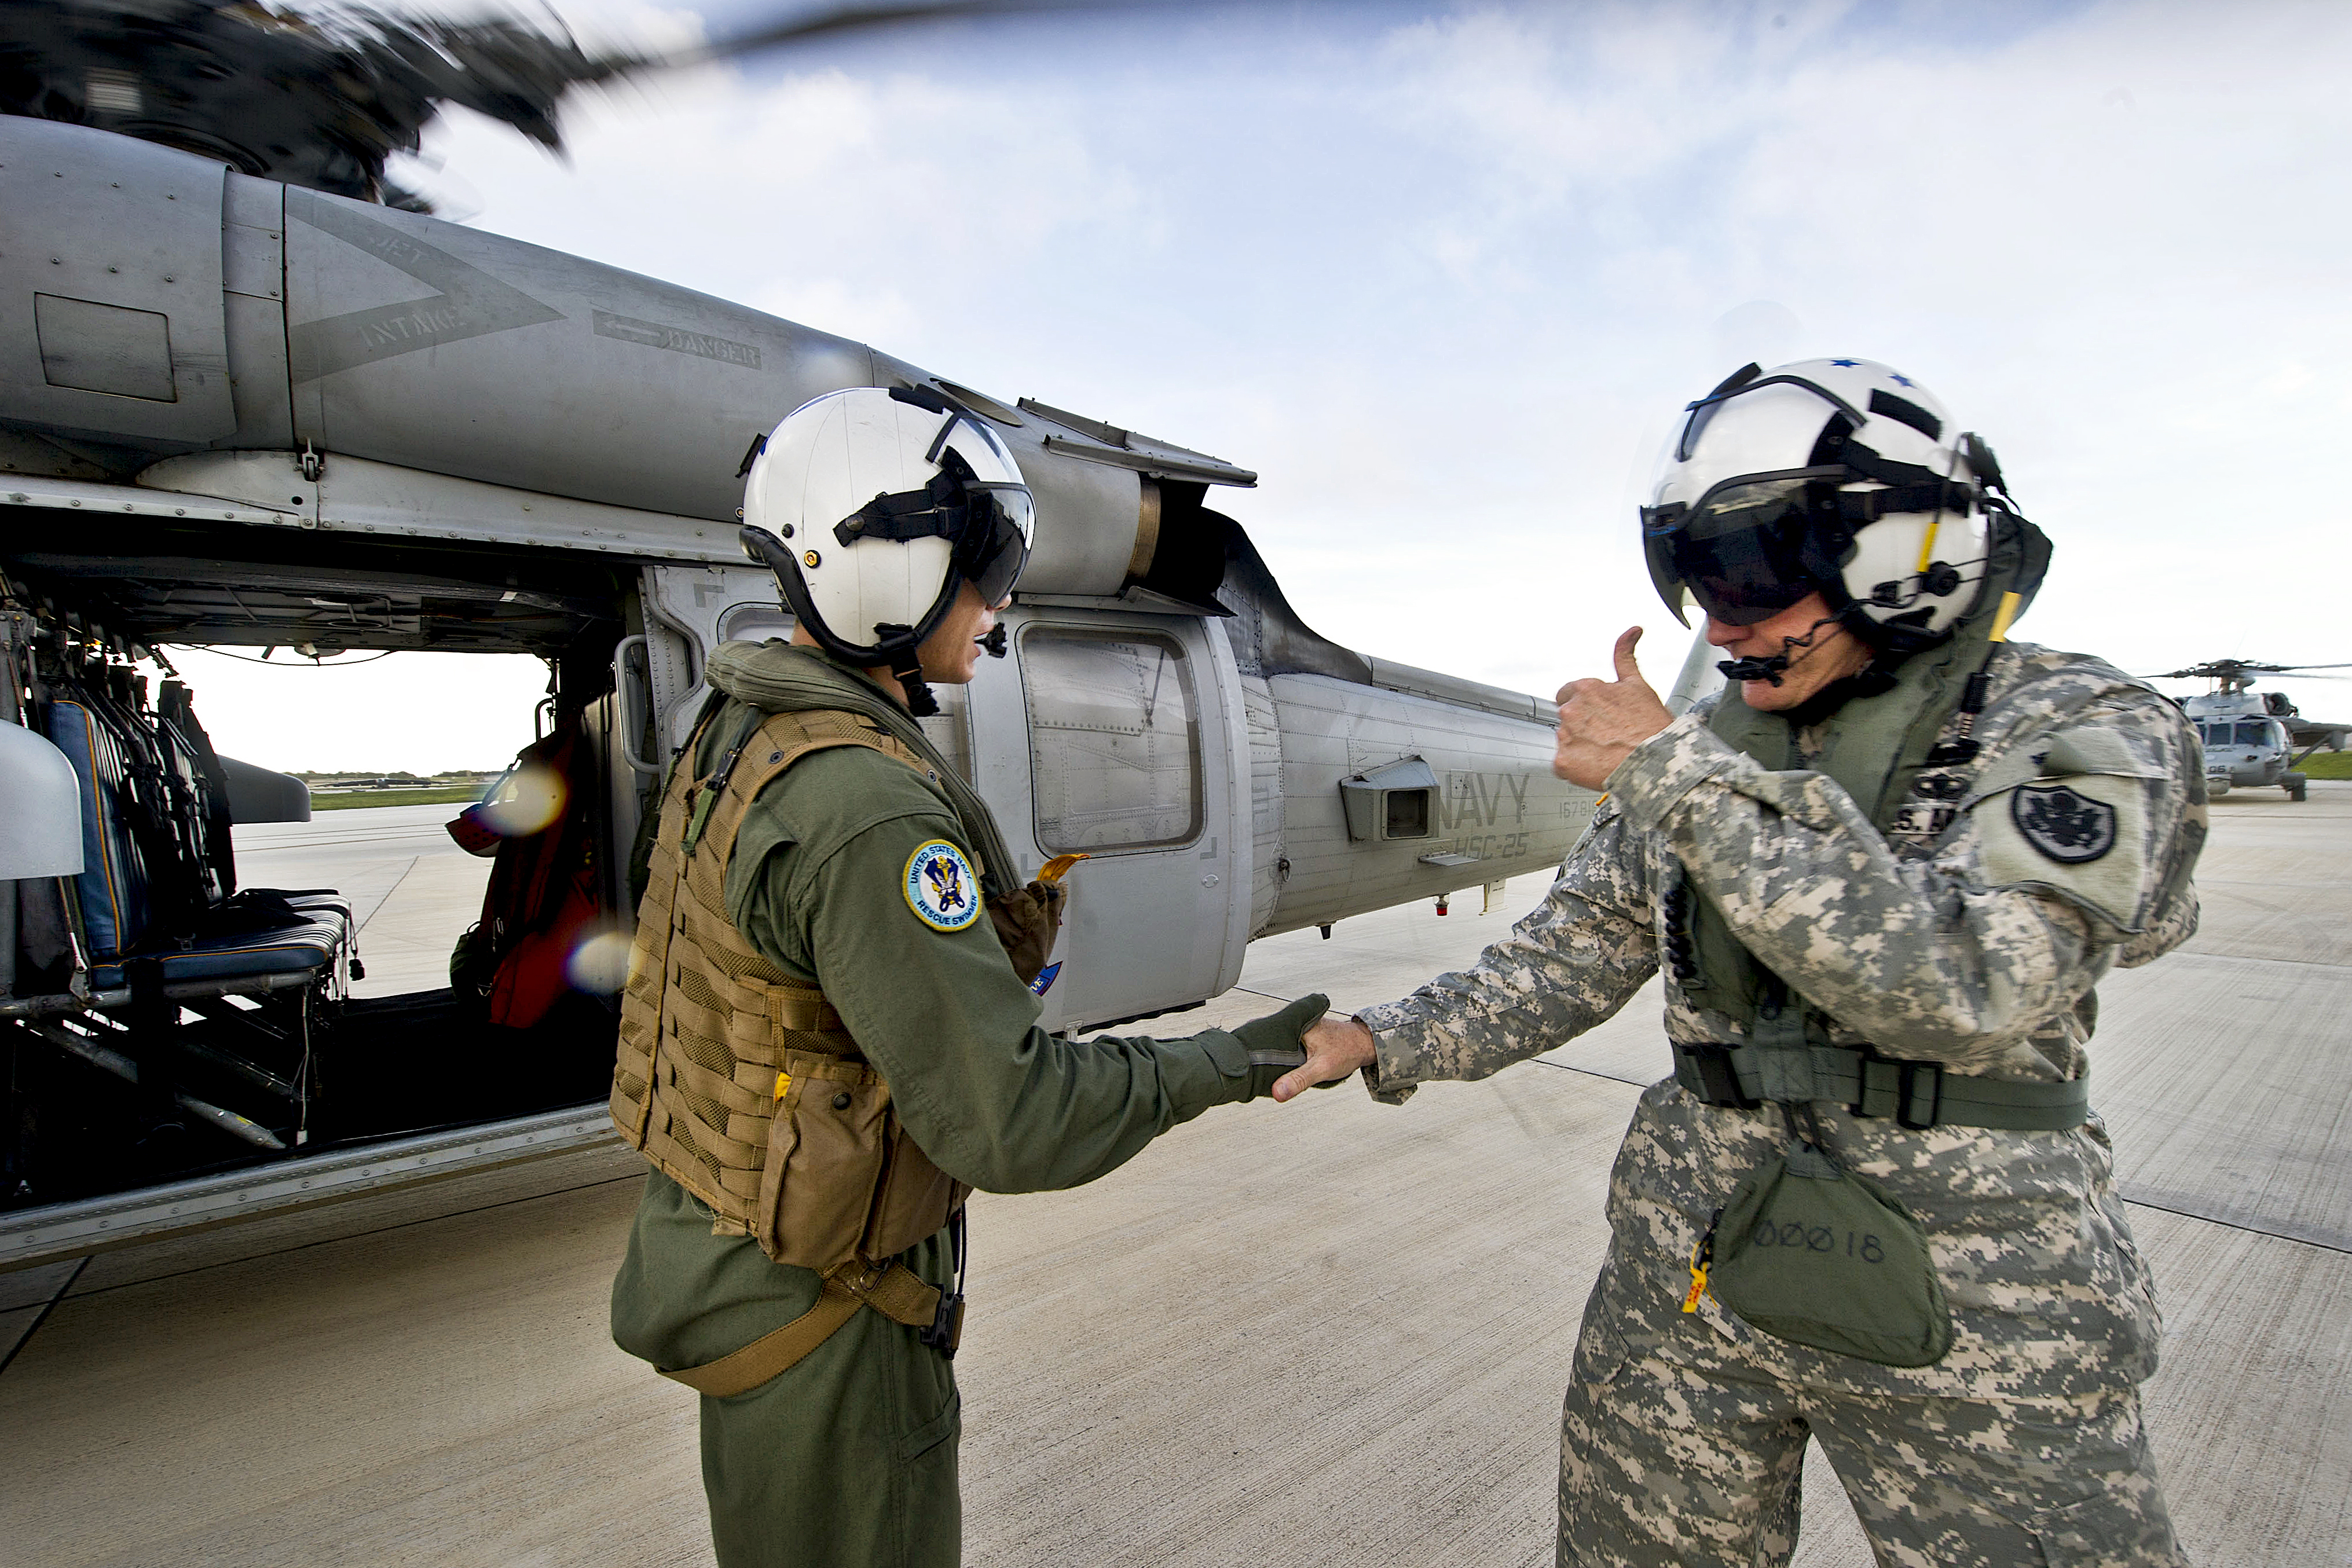
<svg viewBox="0 0 2352 1568">
<path fill-rule="evenodd" d="M 1635 748 L 1552 891 L 1477 966 L 1359 1013 L 1378 1044 L 1378 1098 L 1486 1077 L 1616 1013 L 1658 971 L 1675 879 L 1828 1016 L 1832 1041 L 2009 1079 L 2082 1077 L 2091 987 L 2197 926 L 2194 731 L 2100 661 L 2006 644 L 1976 719 L 1983 750 L 1922 771 L 1889 835 L 1830 778 L 1769 771 L 1705 719 L 1693 710 Z M 2105 806 L 2112 842 L 2079 858 L 2065 813 L 2056 830 L 2037 816 L 2053 804 L 2089 818 Z M 1740 1037 L 1672 976 L 1665 1030 Z M 1929 1229 L 1952 1354 L 1898 1371 L 1773 1340 L 1712 1298 L 1682 1314 L 1708 1215 L 1785 1133 L 1771 1107 L 1708 1107 L 1665 1079 L 1644 1091 L 1618 1154 L 1611 1258 L 1581 1356 L 1679 1345 L 1823 1387 L 2004 1396 L 2079 1394 L 2154 1368 L 2154 1302 L 2096 1119 L 2070 1133 L 1905 1131 L 1818 1110 L 1832 1150 Z M 1693 1342 L 1700 1321 L 1715 1333 Z"/>
</svg>

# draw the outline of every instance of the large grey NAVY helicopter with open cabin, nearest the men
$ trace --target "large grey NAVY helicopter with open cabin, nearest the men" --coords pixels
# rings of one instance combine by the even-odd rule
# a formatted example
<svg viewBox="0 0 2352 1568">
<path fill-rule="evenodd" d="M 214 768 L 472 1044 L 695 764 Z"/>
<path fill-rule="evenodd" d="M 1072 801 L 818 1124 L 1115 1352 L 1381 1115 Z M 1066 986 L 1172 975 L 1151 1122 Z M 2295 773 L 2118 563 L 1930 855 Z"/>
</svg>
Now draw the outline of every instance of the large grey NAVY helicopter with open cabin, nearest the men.
<svg viewBox="0 0 2352 1568">
<path fill-rule="evenodd" d="M 85 28 L 0 71 L 45 110 L 0 115 L 0 1267 L 609 1138 L 640 825 L 710 654 L 793 630 L 739 545 L 746 447 L 837 388 L 988 421 L 1035 494 L 1004 665 L 922 724 L 1016 879 L 1087 856 L 1042 1027 L 1197 1006 L 1263 936 L 1491 903 L 1590 820 L 1550 701 L 1298 618 L 1211 505 L 1256 473 L 416 212 L 383 150 L 489 66 L 461 92 L 400 78 L 386 26 L 181 0 L 292 49 L 193 73 L 249 89 L 207 99 L 141 31 L 169 5 L 9 9 L 129 42 L 92 66 Z M 336 49 L 358 87 L 318 89 Z M 553 134 L 602 66 L 532 49 L 492 66 L 539 96 L 477 96 Z M 240 886 L 233 827 L 308 820 L 308 792 L 212 748 L 181 646 L 548 663 L 543 738 L 452 825 L 494 870 L 449 987 L 358 997 L 343 893 Z"/>
</svg>

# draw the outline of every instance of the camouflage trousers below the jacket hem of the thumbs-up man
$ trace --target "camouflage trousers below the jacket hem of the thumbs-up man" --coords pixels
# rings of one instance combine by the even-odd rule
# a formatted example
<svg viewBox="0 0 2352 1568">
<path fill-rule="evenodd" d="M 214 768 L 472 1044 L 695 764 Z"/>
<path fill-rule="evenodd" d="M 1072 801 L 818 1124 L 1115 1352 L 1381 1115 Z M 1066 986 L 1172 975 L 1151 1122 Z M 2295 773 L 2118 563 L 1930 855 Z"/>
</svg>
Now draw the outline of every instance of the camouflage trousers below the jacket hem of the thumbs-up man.
<svg viewBox="0 0 2352 1568">
<path fill-rule="evenodd" d="M 1851 1394 L 1743 1380 L 1719 1361 L 1578 1354 L 1559 1425 L 1559 1566 L 1788 1563 L 1806 1439 L 1882 1568 L 2187 1563 L 2129 1385 L 2060 1399 Z"/>
</svg>

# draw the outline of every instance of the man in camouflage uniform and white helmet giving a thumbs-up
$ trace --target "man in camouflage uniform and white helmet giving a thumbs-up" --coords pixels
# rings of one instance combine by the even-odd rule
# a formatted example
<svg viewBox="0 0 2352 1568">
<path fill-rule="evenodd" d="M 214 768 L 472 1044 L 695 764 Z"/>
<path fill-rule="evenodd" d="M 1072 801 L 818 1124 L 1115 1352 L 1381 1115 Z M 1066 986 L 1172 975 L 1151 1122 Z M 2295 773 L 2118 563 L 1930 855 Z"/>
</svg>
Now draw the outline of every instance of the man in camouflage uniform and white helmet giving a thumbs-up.
<svg viewBox="0 0 2352 1568">
<path fill-rule="evenodd" d="M 2140 1427 L 2157 1307 L 2082 1086 L 2091 987 L 2194 931 L 2194 736 L 2114 668 L 2006 642 L 2046 543 L 1917 383 L 1748 367 L 1691 409 L 1644 524 L 1736 684 L 1668 715 L 1632 630 L 1616 682 L 1562 689 L 1555 771 L 1606 799 L 1543 905 L 1317 1025 L 1275 1095 L 1479 1079 L 1663 966 L 1677 1077 L 1609 1185 L 1559 1561 L 1783 1563 L 1811 1436 L 1882 1563 L 2180 1563 Z M 1940 1356 L 1795 1342 L 1705 1281 L 1736 1190 L 1792 1152 L 1917 1220 Z"/>
</svg>

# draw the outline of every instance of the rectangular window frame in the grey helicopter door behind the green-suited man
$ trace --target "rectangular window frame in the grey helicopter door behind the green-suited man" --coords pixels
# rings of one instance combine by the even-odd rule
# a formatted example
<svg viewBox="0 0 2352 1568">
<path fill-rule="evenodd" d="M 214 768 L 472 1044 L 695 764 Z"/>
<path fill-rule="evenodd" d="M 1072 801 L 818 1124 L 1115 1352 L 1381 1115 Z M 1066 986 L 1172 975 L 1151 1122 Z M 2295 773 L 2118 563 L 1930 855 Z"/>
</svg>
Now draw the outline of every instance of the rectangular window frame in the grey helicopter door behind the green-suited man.
<svg viewBox="0 0 2352 1568">
<path fill-rule="evenodd" d="M 1077 717 L 1075 712 L 1054 712 L 1054 703 L 1070 703 L 1070 684 L 1077 682 L 1084 696 L 1101 698 L 1117 705 L 1120 696 L 1110 691 L 1101 672 L 1075 670 L 1068 663 L 1056 668 L 1056 656 L 1070 649 L 1084 649 L 1087 644 L 1131 644 L 1148 646 L 1162 654 L 1162 665 L 1155 675 L 1164 677 L 1174 670 L 1174 689 L 1162 686 L 1155 693 L 1143 696 L 1134 703 L 1134 715 L 1138 724 L 1129 731 L 1127 724 L 1110 726 L 1098 712 L 1096 717 Z M 1063 621 L 1033 621 L 1021 628 L 1016 639 L 1021 661 L 1021 708 L 1023 722 L 1028 726 L 1028 752 L 1030 752 L 1030 830 L 1037 835 L 1037 846 L 1049 853 L 1084 851 L 1089 856 L 1131 856 L 1131 853 L 1164 853 L 1171 849 L 1185 849 L 1202 839 L 1207 830 L 1207 757 L 1202 738 L 1202 708 L 1200 708 L 1200 682 L 1192 677 L 1192 658 L 1183 642 L 1169 632 L 1141 630 L 1141 628 L 1098 628 L 1098 625 L 1073 625 Z M 1091 686 L 1089 686 L 1091 679 Z M 1061 686 L 1056 691 L 1054 686 Z M 1049 811 L 1054 802 L 1054 790 L 1049 780 L 1068 778 L 1068 766 L 1082 752 L 1075 748 L 1073 738 L 1094 733 L 1101 736 L 1098 748 L 1108 743 L 1110 750 L 1096 750 L 1096 759 L 1110 766 L 1127 766 L 1136 771 L 1152 773 L 1157 780 L 1167 780 L 1176 769 L 1157 764 L 1155 757 L 1145 757 L 1143 766 L 1136 766 L 1136 757 L 1122 757 L 1117 752 L 1117 733 L 1127 733 L 1129 741 L 1145 741 L 1152 736 L 1176 738 L 1176 726 L 1162 726 L 1155 722 L 1155 708 L 1176 698 L 1183 708 L 1181 712 L 1181 785 L 1178 797 L 1169 802 L 1145 802 L 1120 809 L 1094 809 L 1091 816 L 1101 825 L 1115 825 L 1122 818 L 1150 818 L 1155 811 L 1181 811 L 1183 827 L 1174 835 L 1150 835 L 1150 837 L 1103 837 L 1087 842 L 1094 832 L 1091 827 L 1073 830 L 1073 818 L 1068 802 L 1068 783 L 1061 785 L 1063 809 Z M 1061 719 L 1061 722 L 1056 722 Z"/>
</svg>

